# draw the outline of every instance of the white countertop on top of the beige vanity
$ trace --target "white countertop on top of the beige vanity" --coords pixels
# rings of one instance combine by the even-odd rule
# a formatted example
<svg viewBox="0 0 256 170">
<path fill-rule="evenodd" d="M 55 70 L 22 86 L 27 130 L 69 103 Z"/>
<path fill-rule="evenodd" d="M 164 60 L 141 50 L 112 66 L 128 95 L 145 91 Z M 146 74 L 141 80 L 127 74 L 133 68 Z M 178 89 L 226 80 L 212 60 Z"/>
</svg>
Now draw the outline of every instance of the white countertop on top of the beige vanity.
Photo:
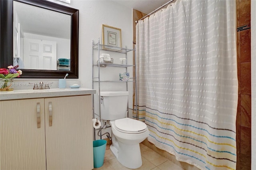
<svg viewBox="0 0 256 170">
<path fill-rule="evenodd" d="M 86 89 L 86 88 L 0 91 L 0 101 L 16 100 L 16 99 L 64 97 L 64 96 L 76 96 L 76 95 L 91 95 L 95 93 L 96 93 L 96 90 Z"/>
</svg>

